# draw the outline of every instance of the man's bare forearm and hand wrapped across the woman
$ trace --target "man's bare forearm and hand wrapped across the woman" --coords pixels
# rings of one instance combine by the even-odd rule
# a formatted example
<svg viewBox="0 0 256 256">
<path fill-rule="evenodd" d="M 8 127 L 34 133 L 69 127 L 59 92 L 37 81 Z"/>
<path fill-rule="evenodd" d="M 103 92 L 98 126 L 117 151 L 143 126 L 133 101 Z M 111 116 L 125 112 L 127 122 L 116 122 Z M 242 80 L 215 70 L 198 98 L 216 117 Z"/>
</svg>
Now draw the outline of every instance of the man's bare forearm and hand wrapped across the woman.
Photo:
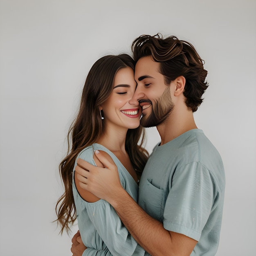
<svg viewBox="0 0 256 256">
<path fill-rule="evenodd" d="M 108 161 L 101 153 L 96 156 L 106 168 L 92 166 L 79 159 L 76 171 L 80 186 L 108 201 L 130 234 L 151 255 L 190 255 L 197 241 L 164 229 L 162 222 L 143 211 L 123 189 L 114 162 Z"/>
</svg>

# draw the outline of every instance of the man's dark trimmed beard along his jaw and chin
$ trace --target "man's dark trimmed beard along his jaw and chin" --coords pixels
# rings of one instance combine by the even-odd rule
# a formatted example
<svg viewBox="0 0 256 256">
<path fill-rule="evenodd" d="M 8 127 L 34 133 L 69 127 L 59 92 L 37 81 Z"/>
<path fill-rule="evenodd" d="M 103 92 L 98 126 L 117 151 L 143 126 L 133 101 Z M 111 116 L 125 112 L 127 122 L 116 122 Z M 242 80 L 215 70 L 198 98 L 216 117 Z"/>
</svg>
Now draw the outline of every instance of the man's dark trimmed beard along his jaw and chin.
<svg viewBox="0 0 256 256">
<path fill-rule="evenodd" d="M 169 86 L 164 90 L 159 99 L 155 100 L 154 105 L 150 100 L 145 101 L 151 103 L 152 106 L 152 112 L 145 116 L 142 115 L 140 119 L 140 124 L 146 128 L 162 124 L 167 117 L 169 117 L 174 108 Z"/>
</svg>

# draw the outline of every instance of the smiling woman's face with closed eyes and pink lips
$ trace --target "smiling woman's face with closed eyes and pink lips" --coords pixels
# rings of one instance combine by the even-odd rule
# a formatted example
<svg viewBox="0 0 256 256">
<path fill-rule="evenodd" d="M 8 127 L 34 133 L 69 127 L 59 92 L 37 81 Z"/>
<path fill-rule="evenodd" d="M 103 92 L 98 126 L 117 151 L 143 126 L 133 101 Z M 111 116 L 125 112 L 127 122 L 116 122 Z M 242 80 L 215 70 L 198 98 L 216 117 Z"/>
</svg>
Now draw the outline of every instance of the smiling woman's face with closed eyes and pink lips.
<svg viewBox="0 0 256 256">
<path fill-rule="evenodd" d="M 125 67 L 117 72 L 112 94 L 101 105 L 106 126 L 128 129 L 139 126 L 141 107 L 137 102 L 129 103 L 136 85 L 132 68 Z"/>
</svg>

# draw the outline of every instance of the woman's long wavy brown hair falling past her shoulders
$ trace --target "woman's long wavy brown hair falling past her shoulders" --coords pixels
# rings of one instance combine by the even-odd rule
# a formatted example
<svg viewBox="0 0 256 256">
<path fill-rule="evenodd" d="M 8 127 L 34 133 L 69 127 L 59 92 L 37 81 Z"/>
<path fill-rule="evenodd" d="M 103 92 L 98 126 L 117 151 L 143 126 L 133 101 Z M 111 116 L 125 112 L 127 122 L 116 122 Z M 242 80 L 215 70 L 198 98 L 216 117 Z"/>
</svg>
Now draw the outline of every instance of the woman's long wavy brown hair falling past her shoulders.
<svg viewBox="0 0 256 256">
<path fill-rule="evenodd" d="M 67 141 L 67 156 L 59 165 L 60 175 L 65 186 L 65 192 L 56 204 L 57 223 L 70 230 L 70 225 L 76 220 L 76 209 L 72 193 L 72 171 L 77 155 L 83 148 L 97 142 L 105 131 L 99 107 L 112 93 L 115 75 L 118 70 L 131 67 L 135 70 L 134 60 L 127 54 L 108 55 L 94 63 L 85 81 L 78 115 L 70 126 Z M 70 143 L 72 141 L 72 144 Z M 138 174 L 144 169 L 148 152 L 142 147 L 144 128 L 128 129 L 125 148 L 132 166 Z"/>
</svg>

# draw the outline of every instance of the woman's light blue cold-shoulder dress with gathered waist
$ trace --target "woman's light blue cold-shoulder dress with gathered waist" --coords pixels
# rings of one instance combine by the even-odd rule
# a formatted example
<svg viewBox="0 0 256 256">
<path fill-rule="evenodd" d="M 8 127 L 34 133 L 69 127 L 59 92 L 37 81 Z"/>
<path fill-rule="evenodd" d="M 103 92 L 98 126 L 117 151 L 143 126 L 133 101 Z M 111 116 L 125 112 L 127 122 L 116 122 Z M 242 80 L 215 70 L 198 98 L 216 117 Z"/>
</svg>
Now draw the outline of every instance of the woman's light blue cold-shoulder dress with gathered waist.
<svg viewBox="0 0 256 256">
<path fill-rule="evenodd" d="M 106 151 L 112 157 L 117 165 L 122 186 L 137 202 L 137 183 L 110 150 L 100 144 L 93 144 L 82 150 L 76 160 L 80 157 L 90 164 L 96 165 L 93 159 L 95 150 Z M 75 166 L 76 162 L 74 164 L 74 170 Z M 83 252 L 83 256 L 149 255 L 130 235 L 115 209 L 108 202 L 99 200 L 94 203 L 89 203 L 83 200 L 76 189 L 74 178 L 72 189 L 79 231 L 84 245 L 88 247 L 88 249 Z"/>
</svg>

